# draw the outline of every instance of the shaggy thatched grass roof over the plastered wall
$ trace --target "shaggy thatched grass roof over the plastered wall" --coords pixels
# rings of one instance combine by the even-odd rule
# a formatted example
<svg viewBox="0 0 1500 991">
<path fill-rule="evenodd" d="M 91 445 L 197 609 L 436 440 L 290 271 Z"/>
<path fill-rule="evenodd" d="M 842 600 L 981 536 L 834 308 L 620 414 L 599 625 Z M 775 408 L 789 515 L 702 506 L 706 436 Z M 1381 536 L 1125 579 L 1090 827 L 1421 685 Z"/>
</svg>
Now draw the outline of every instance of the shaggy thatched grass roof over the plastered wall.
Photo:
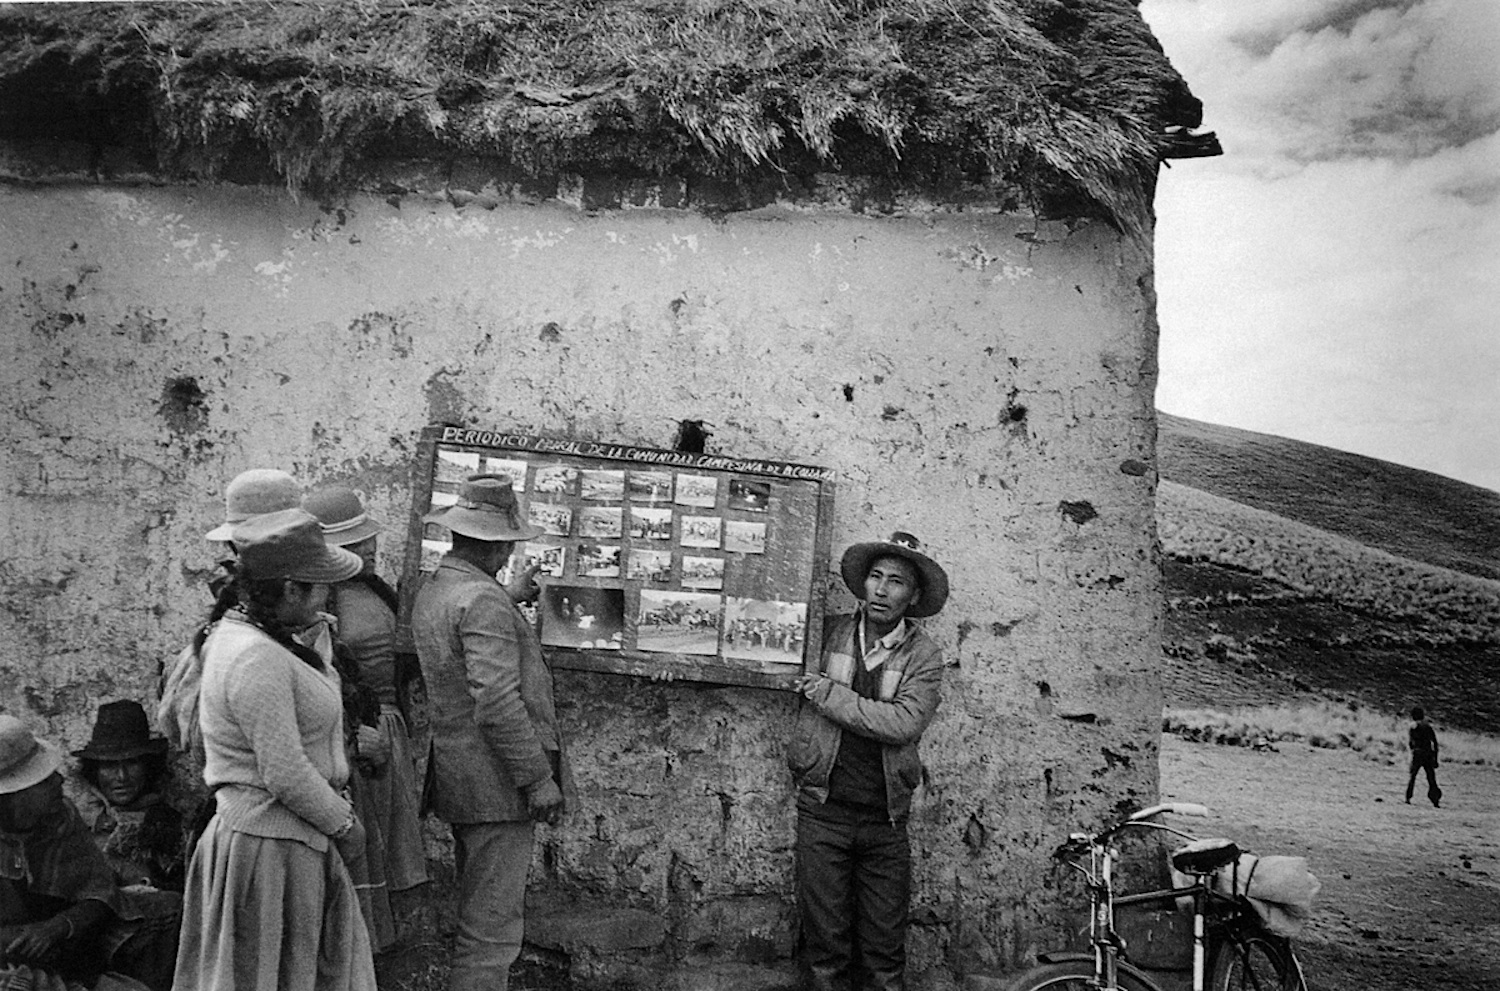
<svg viewBox="0 0 1500 991">
<path fill-rule="evenodd" d="M 0 9 L 0 136 L 292 189 L 374 160 L 1022 189 L 1140 229 L 1200 105 L 1136 0 L 345 0 Z"/>
</svg>

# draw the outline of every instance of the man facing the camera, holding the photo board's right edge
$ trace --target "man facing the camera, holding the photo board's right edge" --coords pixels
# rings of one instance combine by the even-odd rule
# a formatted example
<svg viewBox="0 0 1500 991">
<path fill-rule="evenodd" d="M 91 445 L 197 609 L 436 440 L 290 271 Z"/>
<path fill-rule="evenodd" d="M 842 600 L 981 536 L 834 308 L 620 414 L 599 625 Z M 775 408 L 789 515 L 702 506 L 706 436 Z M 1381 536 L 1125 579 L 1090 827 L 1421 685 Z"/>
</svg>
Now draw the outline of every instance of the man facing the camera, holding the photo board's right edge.
<svg viewBox="0 0 1500 991">
<path fill-rule="evenodd" d="M 802 967 L 818 991 L 900 991 L 916 742 L 942 687 L 942 651 L 912 621 L 942 610 L 948 573 L 908 532 L 849 547 L 840 573 L 860 609 L 828 616 L 816 672 L 794 682 Z"/>
</svg>

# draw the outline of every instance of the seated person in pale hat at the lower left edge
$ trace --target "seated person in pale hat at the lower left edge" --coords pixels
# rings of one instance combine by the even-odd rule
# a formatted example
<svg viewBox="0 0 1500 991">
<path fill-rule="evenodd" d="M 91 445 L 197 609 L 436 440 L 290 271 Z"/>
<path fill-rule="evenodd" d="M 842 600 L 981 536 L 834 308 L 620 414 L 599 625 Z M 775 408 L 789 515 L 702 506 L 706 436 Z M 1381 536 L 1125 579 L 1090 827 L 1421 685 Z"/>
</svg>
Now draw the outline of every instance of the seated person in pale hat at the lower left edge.
<svg viewBox="0 0 1500 991">
<path fill-rule="evenodd" d="M 0 714 L 0 964 L 170 988 L 180 895 L 122 891 L 63 795 L 62 751 Z"/>
</svg>

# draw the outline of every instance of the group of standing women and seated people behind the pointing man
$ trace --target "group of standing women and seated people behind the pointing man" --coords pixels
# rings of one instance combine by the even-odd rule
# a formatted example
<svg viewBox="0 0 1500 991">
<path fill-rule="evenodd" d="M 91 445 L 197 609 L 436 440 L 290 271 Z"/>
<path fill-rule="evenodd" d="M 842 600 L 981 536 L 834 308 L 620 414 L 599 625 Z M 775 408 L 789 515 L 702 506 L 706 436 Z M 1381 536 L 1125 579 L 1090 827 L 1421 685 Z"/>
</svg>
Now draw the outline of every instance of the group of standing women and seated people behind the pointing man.
<svg viewBox="0 0 1500 991">
<path fill-rule="evenodd" d="M 98 708 L 72 762 L 0 714 L 0 975 L 36 988 L 375 988 L 428 880 L 396 594 L 357 493 L 255 469 L 156 723 Z M 16 987 L 8 984 L 6 987 Z"/>
</svg>

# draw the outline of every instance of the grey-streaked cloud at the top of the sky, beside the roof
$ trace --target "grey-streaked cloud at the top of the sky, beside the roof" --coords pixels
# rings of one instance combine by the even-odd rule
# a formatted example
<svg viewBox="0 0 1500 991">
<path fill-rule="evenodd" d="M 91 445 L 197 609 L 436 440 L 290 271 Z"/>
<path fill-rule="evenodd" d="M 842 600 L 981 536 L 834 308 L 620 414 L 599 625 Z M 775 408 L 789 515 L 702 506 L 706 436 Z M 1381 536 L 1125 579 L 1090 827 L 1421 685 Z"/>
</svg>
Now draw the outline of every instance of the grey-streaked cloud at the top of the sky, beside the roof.
<svg viewBox="0 0 1500 991">
<path fill-rule="evenodd" d="M 1142 12 L 1226 150 L 1246 157 L 1430 154 L 1500 126 L 1497 3 L 1148 0 Z"/>
</svg>

